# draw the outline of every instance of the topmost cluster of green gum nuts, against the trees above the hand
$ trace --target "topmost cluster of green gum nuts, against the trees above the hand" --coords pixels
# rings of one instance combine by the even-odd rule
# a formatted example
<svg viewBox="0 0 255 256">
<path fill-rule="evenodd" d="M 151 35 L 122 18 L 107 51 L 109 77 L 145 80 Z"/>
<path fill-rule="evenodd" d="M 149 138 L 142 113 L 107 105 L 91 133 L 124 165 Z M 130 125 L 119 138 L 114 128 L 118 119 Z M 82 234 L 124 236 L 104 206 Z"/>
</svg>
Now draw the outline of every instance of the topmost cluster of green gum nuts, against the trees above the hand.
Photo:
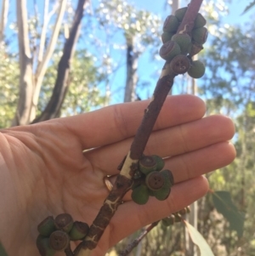
<svg viewBox="0 0 255 256">
<path fill-rule="evenodd" d="M 207 20 L 202 14 L 195 17 L 194 27 L 191 35 L 178 33 L 178 26 L 184 19 L 187 7 L 175 11 L 174 15 L 167 16 L 163 25 L 161 40 L 163 45 L 159 51 L 162 59 L 171 61 L 177 55 L 187 55 L 190 59 L 190 68 L 187 71 L 190 77 L 200 78 L 204 75 L 205 65 L 200 60 L 191 60 L 191 57 L 198 54 L 203 49 L 203 44 L 207 41 L 208 31 L 205 27 Z"/>
</svg>

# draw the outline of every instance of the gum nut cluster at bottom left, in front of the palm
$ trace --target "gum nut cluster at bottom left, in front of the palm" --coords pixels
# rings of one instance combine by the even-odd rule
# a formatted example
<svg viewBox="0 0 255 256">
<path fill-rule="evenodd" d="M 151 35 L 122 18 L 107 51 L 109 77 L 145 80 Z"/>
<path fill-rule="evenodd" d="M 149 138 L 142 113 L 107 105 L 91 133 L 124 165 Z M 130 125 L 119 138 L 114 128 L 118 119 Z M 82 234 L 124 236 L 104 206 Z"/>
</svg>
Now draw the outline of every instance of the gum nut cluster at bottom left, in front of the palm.
<svg viewBox="0 0 255 256">
<path fill-rule="evenodd" d="M 85 222 L 73 221 L 68 213 L 61 213 L 54 219 L 48 216 L 37 226 L 37 248 L 42 256 L 53 256 L 64 251 L 71 241 L 82 240 L 89 230 Z"/>
</svg>

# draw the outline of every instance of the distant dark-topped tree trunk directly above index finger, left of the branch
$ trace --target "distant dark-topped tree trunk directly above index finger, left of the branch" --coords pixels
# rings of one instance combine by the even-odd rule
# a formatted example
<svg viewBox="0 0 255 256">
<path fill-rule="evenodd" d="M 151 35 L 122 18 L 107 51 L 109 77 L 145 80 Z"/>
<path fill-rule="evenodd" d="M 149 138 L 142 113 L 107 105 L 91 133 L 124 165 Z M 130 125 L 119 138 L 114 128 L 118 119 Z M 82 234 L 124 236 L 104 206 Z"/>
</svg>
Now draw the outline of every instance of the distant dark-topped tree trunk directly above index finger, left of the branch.
<svg viewBox="0 0 255 256">
<path fill-rule="evenodd" d="M 133 48 L 133 37 L 126 37 L 127 40 L 127 79 L 125 87 L 124 102 L 135 100 L 135 88 L 138 82 L 137 66 L 139 54 Z"/>
</svg>

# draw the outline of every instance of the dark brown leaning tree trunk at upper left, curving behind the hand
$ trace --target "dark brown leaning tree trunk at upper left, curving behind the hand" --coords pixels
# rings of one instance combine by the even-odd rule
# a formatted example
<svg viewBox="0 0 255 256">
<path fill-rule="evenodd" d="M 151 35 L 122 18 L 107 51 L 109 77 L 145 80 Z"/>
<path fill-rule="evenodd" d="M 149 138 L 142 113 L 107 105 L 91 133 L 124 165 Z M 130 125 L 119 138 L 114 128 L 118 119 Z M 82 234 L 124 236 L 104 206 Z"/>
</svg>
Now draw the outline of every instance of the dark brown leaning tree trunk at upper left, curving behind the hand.
<svg viewBox="0 0 255 256">
<path fill-rule="evenodd" d="M 59 60 L 58 75 L 54 85 L 54 91 L 45 110 L 34 122 L 42 122 L 51 118 L 59 117 L 60 107 L 65 99 L 68 90 L 68 77 L 71 65 L 71 58 L 79 36 L 83 10 L 87 0 L 79 0 L 77 10 L 71 26 L 70 37 L 66 39 L 63 54 Z"/>
</svg>

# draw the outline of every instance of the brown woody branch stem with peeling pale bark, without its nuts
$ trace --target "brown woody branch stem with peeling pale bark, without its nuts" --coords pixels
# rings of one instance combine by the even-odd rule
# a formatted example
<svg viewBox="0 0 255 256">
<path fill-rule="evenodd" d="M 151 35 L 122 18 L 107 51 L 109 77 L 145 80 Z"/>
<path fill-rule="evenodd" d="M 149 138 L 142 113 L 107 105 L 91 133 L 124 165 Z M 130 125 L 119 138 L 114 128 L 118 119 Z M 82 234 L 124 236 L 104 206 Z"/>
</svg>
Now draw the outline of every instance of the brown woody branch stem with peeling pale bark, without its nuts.
<svg viewBox="0 0 255 256">
<path fill-rule="evenodd" d="M 184 15 L 184 19 L 178 26 L 177 33 L 187 33 L 191 35 L 195 17 L 198 14 L 201 3 L 202 0 L 191 0 Z M 161 77 L 156 83 L 150 105 L 148 105 L 147 109 L 144 111 L 144 118 L 135 134 L 125 162 L 122 165 L 121 173 L 117 176 L 113 189 L 109 196 L 106 197 L 104 205 L 100 208 L 98 215 L 94 219 L 85 240 L 77 246 L 74 252 L 75 256 L 90 255 L 91 251 L 97 246 L 111 218 L 116 213 L 116 209 L 121 204 L 122 197 L 133 185 L 133 174 L 138 168 L 139 159 L 143 155 L 145 145 L 156 123 L 161 107 L 167 98 L 167 94 L 173 86 L 173 79 L 177 76 L 177 73 L 174 72 L 172 68 L 169 68 L 172 62 L 173 60 L 165 63 L 161 71 Z"/>
</svg>

